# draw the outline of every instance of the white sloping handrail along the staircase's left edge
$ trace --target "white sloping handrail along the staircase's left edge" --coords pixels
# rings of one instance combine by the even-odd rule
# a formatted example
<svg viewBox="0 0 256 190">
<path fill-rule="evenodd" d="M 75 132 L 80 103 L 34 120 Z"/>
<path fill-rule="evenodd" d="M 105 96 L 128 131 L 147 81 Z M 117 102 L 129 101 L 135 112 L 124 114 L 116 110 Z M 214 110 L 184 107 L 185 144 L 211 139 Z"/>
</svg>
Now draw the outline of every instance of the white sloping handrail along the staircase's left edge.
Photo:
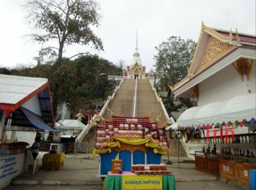
<svg viewBox="0 0 256 190">
<path fill-rule="evenodd" d="M 109 105 L 109 102 L 110 102 L 111 100 L 113 100 L 113 98 L 115 97 L 115 94 L 117 93 L 117 90 L 120 89 L 121 84 L 123 84 L 123 81 L 124 81 L 124 78 L 120 81 L 119 85 L 115 88 L 115 90 L 114 90 L 114 92 L 113 92 L 113 94 L 112 94 L 112 97 L 110 97 L 110 96 L 107 97 L 107 101 L 106 101 L 106 103 L 104 104 L 103 108 L 101 109 L 101 111 L 100 111 L 100 113 L 99 113 L 98 115 L 100 115 L 100 116 L 103 115 L 103 113 L 104 113 L 105 110 L 107 109 L 107 106 Z M 98 117 L 98 115 L 95 114 L 94 116 L 92 116 L 92 119 L 94 119 L 95 121 L 99 121 L 100 118 Z M 88 132 L 89 132 L 89 130 L 91 129 L 92 126 L 93 126 L 93 123 L 92 123 L 92 122 L 89 123 L 89 124 L 87 124 L 87 125 L 85 126 L 85 128 L 83 128 L 83 130 L 81 131 L 81 133 L 77 136 L 76 141 L 77 141 L 77 142 L 82 142 L 83 138 L 85 137 L 85 135 L 88 134 Z"/>
</svg>

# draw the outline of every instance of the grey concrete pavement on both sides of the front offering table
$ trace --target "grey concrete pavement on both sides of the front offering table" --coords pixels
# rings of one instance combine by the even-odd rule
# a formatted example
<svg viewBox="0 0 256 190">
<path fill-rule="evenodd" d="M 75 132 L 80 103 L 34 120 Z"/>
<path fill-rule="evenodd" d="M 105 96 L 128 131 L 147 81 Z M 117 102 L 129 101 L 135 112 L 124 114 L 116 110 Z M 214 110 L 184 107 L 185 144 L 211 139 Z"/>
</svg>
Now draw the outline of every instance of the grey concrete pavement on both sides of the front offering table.
<svg viewBox="0 0 256 190">
<path fill-rule="evenodd" d="M 42 168 L 42 152 L 39 159 L 39 168 Z M 69 154 L 65 155 L 65 162 L 61 169 L 49 171 L 39 169 L 32 175 L 30 172 L 21 174 L 11 181 L 8 189 L 102 189 L 102 181 L 98 175 L 99 157 L 92 159 L 91 154 Z M 167 165 L 168 170 L 172 170 L 176 180 L 176 189 L 240 189 L 232 185 L 220 182 L 214 176 L 196 171 L 194 163 L 179 163 L 177 157 L 169 157 L 173 165 Z M 186 160 L 187 157 L 180 157 L 180 161 Z M 164 163 L 167 156 L 163 157 Z M 179 168 L 178 168 L 179 167 Z M 58 186 L 56 186 L 58 185 Z"/>
</svg>

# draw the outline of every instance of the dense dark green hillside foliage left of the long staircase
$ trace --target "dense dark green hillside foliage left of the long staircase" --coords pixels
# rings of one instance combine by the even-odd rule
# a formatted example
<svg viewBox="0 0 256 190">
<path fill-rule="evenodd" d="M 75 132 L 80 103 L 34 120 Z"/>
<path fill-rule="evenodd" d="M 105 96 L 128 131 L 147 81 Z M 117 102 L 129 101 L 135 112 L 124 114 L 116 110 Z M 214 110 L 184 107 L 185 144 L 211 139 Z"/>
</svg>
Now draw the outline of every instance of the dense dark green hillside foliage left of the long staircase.
<svg viewBox="0 0 256 190">
<path fill-rule="evenodd" d="M 114 82 L 107 76 L 98 75 L 101 71 L 115 73 L 117 66 L 97 55 L 85 55 L 74 61 L 69 61 L 59 67 L 56 63 L 48 62 L 45 65 L 17 66 L 15 69 L 0 68 L 1 74 L 20 75 L 25 77 L 49 78 L 50 91 L 58 97 L 57 103 L 69 104 L 71 112 L 77 113 L 79 109 L 91 112 L 95 109 L 97 100 L 106 100 L 112 95 Z M 55 72 L 52 74 L 52 68 Z M 54 91 L 54 87 L 58 90 Z M 56 119 L 58 116 L 56 115 Z"/>
</svg>

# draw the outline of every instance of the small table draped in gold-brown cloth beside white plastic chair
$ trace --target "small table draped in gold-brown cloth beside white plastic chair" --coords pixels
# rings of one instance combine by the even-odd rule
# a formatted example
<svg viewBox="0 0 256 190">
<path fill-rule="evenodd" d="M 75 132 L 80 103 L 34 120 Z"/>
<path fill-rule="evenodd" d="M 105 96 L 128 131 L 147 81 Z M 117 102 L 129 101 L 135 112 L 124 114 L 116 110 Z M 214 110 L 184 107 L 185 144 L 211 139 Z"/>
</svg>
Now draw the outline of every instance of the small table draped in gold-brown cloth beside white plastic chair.
<svg viewBox="0 0 256 190">
<path fill-rule="evenodd" d="M 60 169 L 63 166 L 65 160 L 65 153 L 50 154 L 46 153 L 43 155 L 43 168 L 44 169 Z"/>
</svg>

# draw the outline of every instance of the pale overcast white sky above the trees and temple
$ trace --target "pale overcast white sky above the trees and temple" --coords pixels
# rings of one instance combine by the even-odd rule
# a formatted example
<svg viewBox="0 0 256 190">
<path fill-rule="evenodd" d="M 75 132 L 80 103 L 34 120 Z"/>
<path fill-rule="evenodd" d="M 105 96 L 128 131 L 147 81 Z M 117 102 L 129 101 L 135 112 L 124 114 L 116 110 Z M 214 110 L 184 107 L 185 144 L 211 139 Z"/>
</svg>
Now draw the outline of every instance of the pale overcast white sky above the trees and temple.
<svg viewBox="0 0 256 190">
<path fill-rule="evenodd" d="M 25 24 L 24 0 L 0 1 L 0 67 L 36 65 L 42 45 L 22 36 L 31 34 Z M 91 46 L 71 45 L 63 54 L 91 52 L 112 63 L 124 60 L 131 65 L 138 30 L 141 63 L 149 72 L 155 65 L 155 47 L 171 36 L 198 41 L 202 22 L 211 28 L 255 35 L 255 0 L 97 0 L 101 21 L 94 33 L 103 42 L 104 51 Z M 45 57 L 47 60 L 47 57 Z"/>
</svg>

